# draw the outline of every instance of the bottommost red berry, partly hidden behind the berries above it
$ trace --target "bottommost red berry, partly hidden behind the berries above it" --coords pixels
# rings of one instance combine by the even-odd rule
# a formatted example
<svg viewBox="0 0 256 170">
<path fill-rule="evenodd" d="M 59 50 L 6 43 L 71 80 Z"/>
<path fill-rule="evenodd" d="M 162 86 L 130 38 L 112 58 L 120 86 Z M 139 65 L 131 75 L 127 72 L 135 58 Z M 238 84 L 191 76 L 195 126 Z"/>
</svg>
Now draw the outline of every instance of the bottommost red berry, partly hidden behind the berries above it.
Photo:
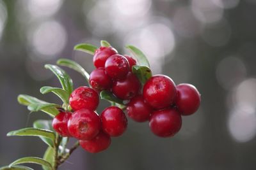
<svg viewBox="0 0 256 170">
<path fill-rule="evenodd" d="M 99 134 L 97 134 L 97 136 L 91 140 L 79 141 L 81 147 L 90 153 L 102 152 L 109 147 L 110 143 L 111 138 L 104 132 L 99 132 Z"/>
</svg>

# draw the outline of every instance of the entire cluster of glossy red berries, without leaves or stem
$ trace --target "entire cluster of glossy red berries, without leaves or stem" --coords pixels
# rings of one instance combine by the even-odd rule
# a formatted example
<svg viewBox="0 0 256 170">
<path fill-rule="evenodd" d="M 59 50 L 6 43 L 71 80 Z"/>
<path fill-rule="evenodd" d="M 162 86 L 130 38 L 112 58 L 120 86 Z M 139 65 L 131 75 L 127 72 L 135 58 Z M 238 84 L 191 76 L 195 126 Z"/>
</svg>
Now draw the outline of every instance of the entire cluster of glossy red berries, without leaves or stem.
<svg viewBox="0 0 256 170">
<path fill-rule="evenodd" d="M 61 136 L 79 140 L 84 150 L 97 153 L 108 148 L 111 137 L 121 136 L 127 129 L 128 117 L 136 122 L 149 121 L 150 130 L 160 137 L 176 134 L 182 125 L 181 115 L 191 115 L 198 110 L 200 94 L 193 85 L 175 85 L 165 75 L 151 76 L 141 83 L 132 67 L 136 60 L 120 55 L 111 46 L 101 46 L 95 51 L 90 74 L 90 87 L 79 87 L 69 98 L 71 112 L 60 112 L 52 121 L 52 127 Z M 100 115 L 99 93 L 111 92 L 126 101 L 124 108 L 109 106 Z"/>
</svg>

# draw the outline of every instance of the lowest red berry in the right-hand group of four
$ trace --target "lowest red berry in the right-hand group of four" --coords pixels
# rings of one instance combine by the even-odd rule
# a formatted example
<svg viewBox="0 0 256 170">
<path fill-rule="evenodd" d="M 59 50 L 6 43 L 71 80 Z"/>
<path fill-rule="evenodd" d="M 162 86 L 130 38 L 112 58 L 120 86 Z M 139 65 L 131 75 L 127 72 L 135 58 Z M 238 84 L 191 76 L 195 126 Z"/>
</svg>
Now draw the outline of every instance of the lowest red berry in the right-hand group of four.
<svg viewBox="0 0 256 170">
<path fill-rule="evenodd" d="M 179 132 L 182 125 L 180 113 L 175 109 L 154 111 L 149 120 L 150 130 L 160 137 L 170 137 Z"/>
</svg>

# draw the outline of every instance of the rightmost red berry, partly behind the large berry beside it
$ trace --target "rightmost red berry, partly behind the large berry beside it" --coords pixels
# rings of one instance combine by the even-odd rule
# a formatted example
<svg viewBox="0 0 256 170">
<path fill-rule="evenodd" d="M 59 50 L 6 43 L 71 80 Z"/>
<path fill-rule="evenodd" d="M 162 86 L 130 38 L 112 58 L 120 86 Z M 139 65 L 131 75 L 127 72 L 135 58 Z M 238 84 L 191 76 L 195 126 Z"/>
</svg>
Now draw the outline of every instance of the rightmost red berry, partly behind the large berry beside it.
<svg viewBox="0 0 256 170">
<path fill-rule="evenodd" d="M 177 85 L 175 104 L 182 115 L 195 113 L 200 105 L 200 94 L 196 87 L 188 83 Z"/>
</svg>

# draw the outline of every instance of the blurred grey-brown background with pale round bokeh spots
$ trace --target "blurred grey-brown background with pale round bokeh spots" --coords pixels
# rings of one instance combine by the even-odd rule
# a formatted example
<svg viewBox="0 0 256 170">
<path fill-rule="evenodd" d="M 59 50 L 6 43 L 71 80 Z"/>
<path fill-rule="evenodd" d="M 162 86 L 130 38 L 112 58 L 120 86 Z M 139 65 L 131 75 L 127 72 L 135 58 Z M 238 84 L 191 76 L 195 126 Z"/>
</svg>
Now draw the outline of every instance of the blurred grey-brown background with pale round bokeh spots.
<svg viewBox="0 0 256 170">
<path fill-rule="evenodd" d="M 125 45 L 138 46 L 154 74 L 194 84 L 202 105 L 183 117 L 173 138 L 157 138 L 147 123 L 129 119 L 127 132 L 108 150 L 79 148 L 60 169 L 255 169 L 255 17 L 255 0 L 0 0 L 0 166 L 42 157 L 47 148 L 39 138 L 6 137 L 50 118 L 29 114 L 17 96 L 60 102 L 39 92 L 45 85 L 60 87 L 44 64 L 63 57 L 90 72 L 92 55 L 73 47 L 106 39 L 120 53 L 127 53 Z M 79 73 L 66 70 L 75 87 L 86 85 Z"/>
</svg>

